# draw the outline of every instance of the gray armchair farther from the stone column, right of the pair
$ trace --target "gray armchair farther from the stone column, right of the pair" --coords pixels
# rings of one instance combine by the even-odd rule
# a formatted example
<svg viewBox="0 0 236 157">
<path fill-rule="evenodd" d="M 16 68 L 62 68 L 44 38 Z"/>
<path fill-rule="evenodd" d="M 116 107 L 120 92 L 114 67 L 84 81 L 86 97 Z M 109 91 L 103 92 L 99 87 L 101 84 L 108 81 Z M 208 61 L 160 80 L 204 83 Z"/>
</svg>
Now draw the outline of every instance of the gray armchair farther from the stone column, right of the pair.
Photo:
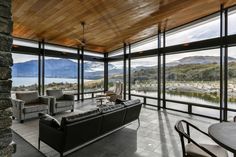
<svg viewBox="0 0 236 157">
<path fill-rule="evenodd" d="M 74 95 L 63 94 L 62 90 L 47 90 L 46 93 L 51 98 L 51 115 L 67 110 L 74 111 Z"/>
</svg>

